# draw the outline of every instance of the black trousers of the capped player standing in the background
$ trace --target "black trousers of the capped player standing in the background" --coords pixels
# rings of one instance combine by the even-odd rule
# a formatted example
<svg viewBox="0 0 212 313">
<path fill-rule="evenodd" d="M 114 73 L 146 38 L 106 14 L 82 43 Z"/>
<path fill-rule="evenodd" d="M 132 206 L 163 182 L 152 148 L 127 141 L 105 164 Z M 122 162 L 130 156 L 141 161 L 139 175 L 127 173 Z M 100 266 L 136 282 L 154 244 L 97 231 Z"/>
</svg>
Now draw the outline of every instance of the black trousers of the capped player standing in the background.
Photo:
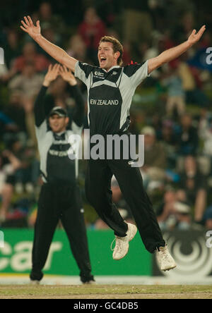
<svg viewBox="0 0 212 313">
<path fill-rule="evenodd" d="M 49 247 L 59 219 L 69 238 L 73 257 L 81 271 L 81 281 L 86 282 L 93 279 L 86 226 L 81 209 L 81 194 L 77 185 L 52 185 L 49 183 L 42 185 L 35 223 L 33 270 L 30 274 L 32 280 L 40 281 L 42 279 L 42 269 L 47 261 Z"/>
</svg>

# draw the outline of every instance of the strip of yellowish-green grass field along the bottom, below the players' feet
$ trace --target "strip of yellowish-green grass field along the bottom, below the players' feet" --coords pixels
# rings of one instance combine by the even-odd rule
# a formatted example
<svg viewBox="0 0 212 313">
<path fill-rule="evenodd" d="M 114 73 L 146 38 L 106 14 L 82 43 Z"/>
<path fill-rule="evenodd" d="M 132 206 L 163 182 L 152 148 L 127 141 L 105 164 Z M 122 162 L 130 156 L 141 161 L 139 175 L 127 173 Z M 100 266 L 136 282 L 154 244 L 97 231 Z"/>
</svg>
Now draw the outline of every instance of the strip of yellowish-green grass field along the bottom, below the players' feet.
<svg viewBox="0 0 212 313">
<path fill-rule="evenodd" d="M 212 286 L 0 286 L 0 299 L 212 299 Z"/>
</svg>

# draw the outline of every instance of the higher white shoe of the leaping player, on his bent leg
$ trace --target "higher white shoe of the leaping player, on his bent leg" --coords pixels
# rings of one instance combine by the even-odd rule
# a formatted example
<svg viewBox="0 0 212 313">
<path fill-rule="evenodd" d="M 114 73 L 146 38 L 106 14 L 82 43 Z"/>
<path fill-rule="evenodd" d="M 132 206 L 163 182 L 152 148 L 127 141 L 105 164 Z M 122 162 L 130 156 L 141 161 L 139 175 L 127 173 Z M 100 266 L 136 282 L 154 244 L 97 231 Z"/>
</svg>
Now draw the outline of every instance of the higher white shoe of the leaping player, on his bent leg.
<svg viewBox="0 0 212 313">
<path fill-rule="evenodd" d="M 115 236 L 116 245 L 114 247 L 112 258 L 115 260 L 122 259 L 125 257 L 129 250 L 129 241 L 133 240 L 137 233 L 137 227 L 134 224 L 127 223 L 128 231 L 126 232 L 125 237 Z M 112 243 L 114 243 L 114 240 Z M 111 245 L 112 246 L 112 245 Z"/>
</svg>

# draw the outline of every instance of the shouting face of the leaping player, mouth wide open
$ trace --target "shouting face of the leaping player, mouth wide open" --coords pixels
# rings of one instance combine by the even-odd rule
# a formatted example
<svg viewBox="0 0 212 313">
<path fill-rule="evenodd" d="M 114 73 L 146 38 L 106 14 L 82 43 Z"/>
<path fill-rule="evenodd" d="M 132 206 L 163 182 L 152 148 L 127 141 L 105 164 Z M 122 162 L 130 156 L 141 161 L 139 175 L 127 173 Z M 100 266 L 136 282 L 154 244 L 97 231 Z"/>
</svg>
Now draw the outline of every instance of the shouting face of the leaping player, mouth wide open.
<svg viewBox="0 0 212 313">
<path fill-rule="evenodd" d="M 117 66 L 119 52 L 114 53 L 112 42 L 101 42 L 98 49 L 98 60 L 100 68 L 109 70 L 112 66 Z"/>
</svg>

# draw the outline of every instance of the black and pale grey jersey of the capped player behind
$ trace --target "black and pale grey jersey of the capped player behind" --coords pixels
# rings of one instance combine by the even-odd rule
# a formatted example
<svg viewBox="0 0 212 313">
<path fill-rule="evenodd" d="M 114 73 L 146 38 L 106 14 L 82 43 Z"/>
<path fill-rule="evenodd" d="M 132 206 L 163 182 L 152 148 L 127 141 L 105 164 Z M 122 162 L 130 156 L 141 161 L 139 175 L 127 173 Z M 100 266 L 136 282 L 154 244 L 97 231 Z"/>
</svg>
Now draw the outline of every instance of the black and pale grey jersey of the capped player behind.
<svg viewBox="0 0 212 313">
<path fill-rule="evenodd" d="M 47 87 L 42 86 L 35 101 L 35 132 L 40 152 L 40 171 L 45 183 L 76 183 L 78 177 L 78 159 L 70 159 L 76 154 L 71 145 L 71 135 L 81 135 L 83 130 L 84 101 L 78 86 L 69 87 L 76 107 L 71 114 L 71 125 L 64 133 L 53 133 L 47 118 L 54 104 L 48 104 Z"/>
</svg>

